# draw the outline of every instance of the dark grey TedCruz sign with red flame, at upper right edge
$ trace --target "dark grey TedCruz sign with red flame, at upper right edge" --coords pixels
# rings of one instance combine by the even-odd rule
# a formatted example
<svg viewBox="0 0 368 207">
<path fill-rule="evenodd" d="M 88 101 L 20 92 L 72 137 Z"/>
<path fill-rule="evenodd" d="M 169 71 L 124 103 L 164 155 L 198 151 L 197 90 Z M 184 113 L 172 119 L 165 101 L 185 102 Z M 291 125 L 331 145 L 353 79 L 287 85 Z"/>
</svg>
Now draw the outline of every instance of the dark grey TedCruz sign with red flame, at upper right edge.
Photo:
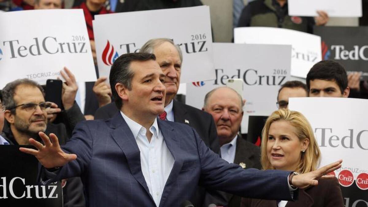
<svg viewBox="0 0 368 207">
<path fill-rule="evenodd" d="M 368 79 L 368 27 L 315 27 L 322 39 L 322 59 L 341 63 L 347 71 L 361 71 Z"/>
</svg>

